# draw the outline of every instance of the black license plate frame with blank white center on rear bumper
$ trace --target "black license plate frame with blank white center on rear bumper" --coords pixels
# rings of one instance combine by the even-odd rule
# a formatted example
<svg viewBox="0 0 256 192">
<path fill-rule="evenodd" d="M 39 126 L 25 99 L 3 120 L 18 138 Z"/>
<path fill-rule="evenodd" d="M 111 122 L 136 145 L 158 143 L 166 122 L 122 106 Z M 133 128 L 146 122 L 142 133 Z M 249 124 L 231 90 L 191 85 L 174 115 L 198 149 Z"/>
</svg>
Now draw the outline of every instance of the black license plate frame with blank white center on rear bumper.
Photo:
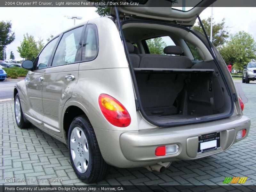
<svg viewBox="0 0 256 192">
<path fill-rule="evenodd" d="M 220 132 L 198 136 L 197 153 L 205 153 L 220 148 Z"/>
</svg>

